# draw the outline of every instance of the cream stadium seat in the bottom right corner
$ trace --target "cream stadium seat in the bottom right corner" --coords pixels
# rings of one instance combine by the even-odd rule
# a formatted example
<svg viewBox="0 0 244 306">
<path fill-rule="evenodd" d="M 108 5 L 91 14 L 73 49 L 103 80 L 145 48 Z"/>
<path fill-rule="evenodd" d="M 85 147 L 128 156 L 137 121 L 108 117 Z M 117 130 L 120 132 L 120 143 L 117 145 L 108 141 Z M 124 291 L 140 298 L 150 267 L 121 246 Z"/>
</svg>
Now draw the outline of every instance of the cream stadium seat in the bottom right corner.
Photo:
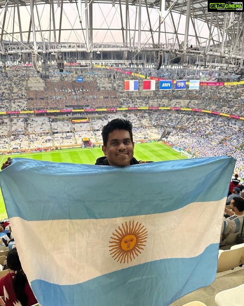
<svg viewBox="0 0 244 306">
<path fill-rule="evenodd" d="M 244 284 L 217 293 L 214 302 L 217 306 L 243 306 Z"/>
</svg>

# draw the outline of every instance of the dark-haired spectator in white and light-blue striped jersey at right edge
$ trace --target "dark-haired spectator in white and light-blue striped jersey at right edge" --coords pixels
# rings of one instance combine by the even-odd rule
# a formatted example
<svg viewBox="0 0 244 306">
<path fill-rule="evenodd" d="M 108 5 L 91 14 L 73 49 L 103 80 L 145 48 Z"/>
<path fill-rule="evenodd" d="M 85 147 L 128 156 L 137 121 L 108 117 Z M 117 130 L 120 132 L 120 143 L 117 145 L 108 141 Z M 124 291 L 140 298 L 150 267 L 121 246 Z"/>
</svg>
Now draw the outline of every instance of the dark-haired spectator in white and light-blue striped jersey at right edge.
<svg viewBox="0 0 244 306">
<path fill-rule="evenodd" d="M 222 240 L 227 237 L 227 234 L 241 231 L 244 217 L 244 199 L 241 197 L 234 197 L 231 200 L 231 210 L 225 208 L 224 212 L 230 217 L 224 217 L 223 219 Z"/>
</svg>

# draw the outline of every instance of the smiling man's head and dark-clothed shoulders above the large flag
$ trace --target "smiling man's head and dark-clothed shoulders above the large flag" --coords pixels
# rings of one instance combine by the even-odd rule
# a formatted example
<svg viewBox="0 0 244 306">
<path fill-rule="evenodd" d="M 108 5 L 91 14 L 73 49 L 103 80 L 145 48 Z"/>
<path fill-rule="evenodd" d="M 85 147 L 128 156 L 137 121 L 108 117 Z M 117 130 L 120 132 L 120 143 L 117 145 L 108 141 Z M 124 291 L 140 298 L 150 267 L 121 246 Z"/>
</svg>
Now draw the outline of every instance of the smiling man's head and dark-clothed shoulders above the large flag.
<svg viewBox="0 0 244 306">
<path fill-rule="evenodd" d="M 129 166 L 143 163 L 133 157 L 134 142 L 129 120 L 116 118 L 107 123 L 102 129 L 102 140 L 105 156 L 98 158 L 95 165 Z"/>
</svg>

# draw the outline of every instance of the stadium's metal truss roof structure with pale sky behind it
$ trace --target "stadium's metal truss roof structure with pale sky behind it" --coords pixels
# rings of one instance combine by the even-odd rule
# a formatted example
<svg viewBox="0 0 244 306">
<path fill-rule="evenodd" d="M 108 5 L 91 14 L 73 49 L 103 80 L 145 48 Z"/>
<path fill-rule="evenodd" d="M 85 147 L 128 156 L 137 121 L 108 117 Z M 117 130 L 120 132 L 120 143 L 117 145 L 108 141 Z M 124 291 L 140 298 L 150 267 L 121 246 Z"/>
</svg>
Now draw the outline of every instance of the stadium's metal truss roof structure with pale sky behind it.
<svg viewBox="0 0 244 306">
<path fill-rule="evenodd" d="M 244 13 L 203 0 L 1 0 L 0 59 L 213 63 L 240 72 Z"/>
</svg>

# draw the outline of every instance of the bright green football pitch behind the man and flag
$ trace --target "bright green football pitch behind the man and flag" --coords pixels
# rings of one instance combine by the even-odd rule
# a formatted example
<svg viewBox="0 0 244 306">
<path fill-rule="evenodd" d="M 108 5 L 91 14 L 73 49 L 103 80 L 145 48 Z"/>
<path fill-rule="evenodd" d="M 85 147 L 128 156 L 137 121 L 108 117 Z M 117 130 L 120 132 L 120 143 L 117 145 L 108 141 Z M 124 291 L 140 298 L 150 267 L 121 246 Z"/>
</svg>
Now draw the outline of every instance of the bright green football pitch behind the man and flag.
<svg viewBox="0 0 244 306">
<path fill-rule="evenodd" d="M 93 149 L 62 149 L 56 151 L 25 153 L 17 155 L 2 155 L 1 165 L 8 158 L 29 158 L 45 160 L 48 162 L 70 162 L 77 164 L 95 164 L 97 158 L 103 156 L 102 147 L 94 147 Z M 185 159 L 180 153 L 176 152 L 170 146 L 162 142 L 152 142 L 145 144 L 135 144 L 134 157 L 137 160 L 159 162 L 163 160 Z M 0 219 L 7 217 L 5 204 L 0 192 Z"/>
</svg>

